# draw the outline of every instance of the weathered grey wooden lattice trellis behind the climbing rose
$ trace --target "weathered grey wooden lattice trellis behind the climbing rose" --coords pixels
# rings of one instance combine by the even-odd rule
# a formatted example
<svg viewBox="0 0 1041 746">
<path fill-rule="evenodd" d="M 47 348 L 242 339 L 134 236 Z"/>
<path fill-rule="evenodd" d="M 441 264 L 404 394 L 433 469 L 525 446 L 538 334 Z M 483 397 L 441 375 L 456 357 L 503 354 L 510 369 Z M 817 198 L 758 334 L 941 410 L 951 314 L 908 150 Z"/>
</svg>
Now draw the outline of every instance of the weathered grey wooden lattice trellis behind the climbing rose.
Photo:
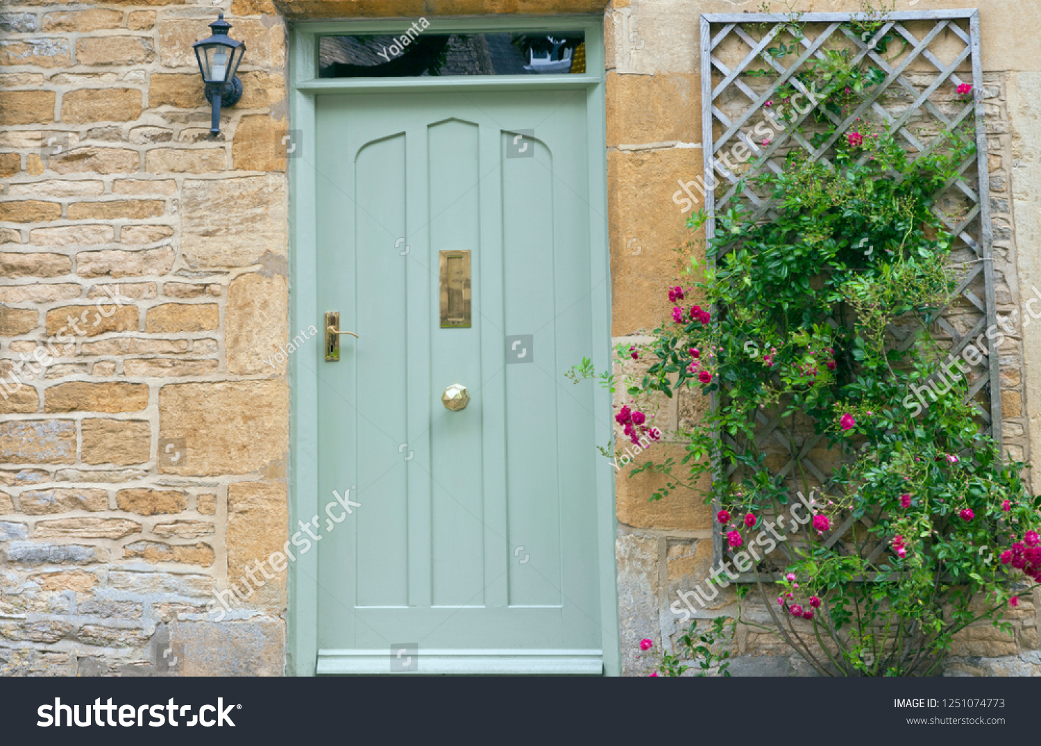
<svg viewBox="0 0 1041 746">
<path fill-rule="evenodd" d="M 865 22 L 871 25 L 865 26 Z M 799 33 L 792 34 L 793 23 Z M 866 27 L 873 35 L 865 41 Z M 786 35 L 787 34 L 787 35 Z M 875 49 L 883 37 L 899 40 L 898 54 L 884 57 Z M 953 261 L 965 267 L 958 274 L 954 300 L 941 310 L 934 324 L 934 334 L 945 338 L 951 354 L 958 354 L 972 340 L 997 323 L 990 217 L 990 189 L 987 168 L 987 132 L 983 103 L 983 67 L 977 10 L 935 10 L 891 12 L 873 18 L 864 14 L 802 14 L 787 18 L 771 14 L 709 14 L 701 20 L 702 38 L 702 122 L 705 154 L 705 207 L 710 215 L 707 238 L 715 234 L 711 215 L 723 212 L 741 202 L 756 220 L 771 215 L 771 200 L 757 194 L 751 182 L 738 188 L 742 177 L 769 169 L 780 173 L 784 155 L 792 148 L 805 149 L 813 161 L 831 163 L 833 146 L 858 118 L 870 115 L 888 127 L 889 132 L 906 144 L 912 158 L 929 154 L 940 142 L 940 132 L 970 122 L 974 125 L 976 152 L 960 164 L 959 175 L 936 195 L 934 210 L 957 243 Z M 768 53 L 771 44 L 797 43 L 792 54 L 779 57 Z M 789 46 L 789 49 L 791 47 Z M 826 50 L 844 48 L 854 63 L 877 66 L 885 79 L 865 96 L 847 115 L 840 117 L 823 107 L 816 111 L 835 125 L 834 133 L 814 146 L 796 128 L 812 115 L 810 108 L 780 131 L 772 139 L 759 144 L 747 130 L 763 120 L 764 106 L 781 86 L 790 85 L 803 96 L 811 92 L 795 74 L 813 58 L 823 58 Z M 752 77 L 753 67 L 772 69 L 768 76 Z M 951 95 L 962 83 L 972 84 L 970 100 Z M 868 113 L 870 112 L 870 113 Z M 818 113 L 818 115 L 819 115 Z M 969 119 L 972 118 L 972 119 Z M 720 162 L 720 155 L 740 144 L 741 152 L 757 156 L 755 164 L 731 169 Z M 778 157 L 775 158 L 773 156 Z M 710 188 L 714 187 L 714 188 Z M 943 209 L 954 207 L 954 213 Z M 710 257 L 711 261 L 711 257 Z M 833 320 L 834 323 L 834 320 Z M 915 341 L 916 328 L 889 327 L 896 344 L 906 350 Z M 985 371 L 969 380 L 968 398 L 979 410 L 981 426 L 1000 445 L 1001 396 L 998 355 L 987 358 Z M 712 405 L 716 406 L 713 396 Z M 793 472 L 796 458 L 812 473 L 827 493 L 831 486 L 829 467 L 814 463 L 812 452 L 821 445 L 823 435 L 812 435 L 802 443 L 789 442 L 780 422 L 762 413 L 758 415 L 757 445 L 780 444 L 788 457 L 781 469 L 784 477 Z M 726 436 L 723 436 L 726 437 Z M 733 444 L 731 442 L 731 444 Z M 716 479 L 729 480 L 737 467 L 716 465 Z M 854 529 L 853 518 L 838 525 L 828 538 L 828 545 L 839 542 Z M 722 559 L 722 539 L 714 532 L 715 562 Z M 869 554 L 870 561 L 885 549 L 879 543 Z M 742 580 L 753 580 L 743 573 Z"/>
</svg>

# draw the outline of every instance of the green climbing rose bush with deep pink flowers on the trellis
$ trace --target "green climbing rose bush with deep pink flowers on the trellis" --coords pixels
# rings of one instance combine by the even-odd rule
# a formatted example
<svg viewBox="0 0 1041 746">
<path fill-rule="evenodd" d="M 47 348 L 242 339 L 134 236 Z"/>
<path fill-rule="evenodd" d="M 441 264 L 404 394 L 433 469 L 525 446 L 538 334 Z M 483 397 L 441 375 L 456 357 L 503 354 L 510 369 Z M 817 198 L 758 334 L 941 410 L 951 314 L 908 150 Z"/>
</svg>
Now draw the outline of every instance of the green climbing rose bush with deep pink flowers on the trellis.
<svg viewBox="0 0 1041 746">
<path fill-rule="evenodd" d="M 826 78 L 818 67 L 803 80 L 820 83 L 818 106 L 840 121 L 879 82 L 841 61 L 830 55 Z M 971 86 L 957 94 L 970 97 Z M 816 114 L 815 145 L 835 132 Z M 630 475 L 663 474 L 651 498 L 659 499 L 711 474 L 705 500 L 717 507 L 729 560 L 765 543 L 764 522 L 794 492 L 815 493 L 812 523 L 771 554 L 753 555 L 754 586 L 738 594 L 755 588 L 771 623 L 743 623 L 782 638 L 821 674 L 925 675 L 973 622 L 1012 634 L 1002 615 L 1041 583 L 1041 497 L 1027 493 L 1024 464 L 1002 462 L 981 432 L 965 378 L 951 377 L 925 407 L 908 404 L 912 385 L 948 352 L 929 330 L 954 298 L 955 238 L 933 198 L 974 153 L 971 130 L 941 133 L 914 160 L 882 124 L 858 120 L 843 134 L 834 168 L 793 151 L 781 173 L 748 177 L 776 201 L 769 220 L 754 221 L 739 205 L 714 215 L 706 246 L 714 261 L 691 252 L 654 341 L 618 350 L 625 362 L 651 363 L 627 382 L 618 421 L 635 421 L 640 403 L 648 409 L 660 393 L 714 394 L 716 406 L 679 434 L 682 460 L 646 462 Z M 707 217 L 696 213 L 688 227 Z M 910 321 L 916 343 L 902 350 L 887 329 Z M 996 355 L 999 343 L 977 352 Z M 588 361 L 582 369 L 588 377 Z M 757 440 L 761 415 L 776 418 L 791 444 L 783 459 Z M 822 437 L 818 452 L 841 455 L 826 494 L 803 458 L 814 436 Z M 789 460 L 790 471 L 782 468 Z M 721 479 L 716 469 L 730 467 Z"/>
</svg>

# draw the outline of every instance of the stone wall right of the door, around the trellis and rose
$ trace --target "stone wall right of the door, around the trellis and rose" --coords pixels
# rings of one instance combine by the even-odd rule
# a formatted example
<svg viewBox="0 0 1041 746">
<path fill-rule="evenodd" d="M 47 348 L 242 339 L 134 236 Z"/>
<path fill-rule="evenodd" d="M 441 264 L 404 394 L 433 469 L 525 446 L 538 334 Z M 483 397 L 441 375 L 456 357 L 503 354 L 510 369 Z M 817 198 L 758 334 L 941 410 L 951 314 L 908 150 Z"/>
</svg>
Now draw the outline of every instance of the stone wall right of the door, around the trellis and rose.
<svg viewBox="0 0 1041 746">
<path fill-rule="evenodd" d="M 613 341 L 639 344 L 666 318 L 665 289 L 678 275 L 677 248 L 692 239 L 685 215 L 671 195 L 702 173 L 701 51 L 702 12 L 757 11 L 758 0 L 615 0 L 606 14 L 608 58 L 608 191 L 610 201 Z M 777 8 L 781 3 L 775 3 Z M 1038 197 L 1041 187 L 1038 123 L 1041 61 L 1021 37 L 1041 7 L 1023 0 L 986 3 L 921 0 L 897 10 L 923 11 L 981 7 L 990 153 L 994 253 L 998 312 L 1007 316 L 1041 288 L 1038 271 Z M 805 0 L 805 11 L 855 11 L 857 0 Z M 1015 19 L 1015 20 L 1013 20 Z M 1018 240 L 1017 240 L 1018 237 Z M 676 283 L 671 283 L 676 284 Z M 695 300 L 696 302 L 696 300 Z M 1020 317 L 1025 315 L 1020 312 Z M 1001 400 L 1007 451 L 1018 459 L 1041 454 L 1041 420 L 1025 382 L 1041 376 L 1041 325 L 1016 330 L 1001 348 Z M 616 366 L 635 372 L 637 364 Z M 1031 371 L 1034 370 L 1032 374 Z M 1033 387 L 1036 390 L 1036 386 Z M 617 405 L 624 403 L 619 395 Z M 700 394 L 680 394 L 663 406 L 655 421 L 668 432 L 704 411 Z M 620 435 L 620 432 L 619 432 Z M 624 442 L 624 440 L 619 441 Z M 657 460 L 681 454 L 679 443 L 653 447 Z M 638 460 L 641 463 L 642 460 Z M 656 650 L 671 649 L 680 632 L 669 604 L 678 591 L 700 587 L 712 563 L 712 516 L 694 491 L 674 491 L 649 503 L 661 478 L 651 473 L 617 478 L 618 588 L 621 651 L 626 674 L 646 674 L 655 657 L 638 653 L 638 642 L 652 639 Z M 1035 480 L 1035 484 L 1037 481 Z M 751 598 L 751 597 L 750 597 Z M 1014 637 L 989 624 L 966 629 L 958 639 L 951 673 L 1041 674 L 1037 624 L 1041 597 L 1024 599 L 1009 615 Z M 736 617 L 732 589 L 721 591 L 701 616 Z M 765 621 L 765 610 L 746 603 L 744 618 Z M 757 618 L 757 617 L 762 617 Z M 810 669 L 789 648 L 754 627 L 739 625 L 730 643 L 735 675 L 798 675 Z"/>
</svg>

